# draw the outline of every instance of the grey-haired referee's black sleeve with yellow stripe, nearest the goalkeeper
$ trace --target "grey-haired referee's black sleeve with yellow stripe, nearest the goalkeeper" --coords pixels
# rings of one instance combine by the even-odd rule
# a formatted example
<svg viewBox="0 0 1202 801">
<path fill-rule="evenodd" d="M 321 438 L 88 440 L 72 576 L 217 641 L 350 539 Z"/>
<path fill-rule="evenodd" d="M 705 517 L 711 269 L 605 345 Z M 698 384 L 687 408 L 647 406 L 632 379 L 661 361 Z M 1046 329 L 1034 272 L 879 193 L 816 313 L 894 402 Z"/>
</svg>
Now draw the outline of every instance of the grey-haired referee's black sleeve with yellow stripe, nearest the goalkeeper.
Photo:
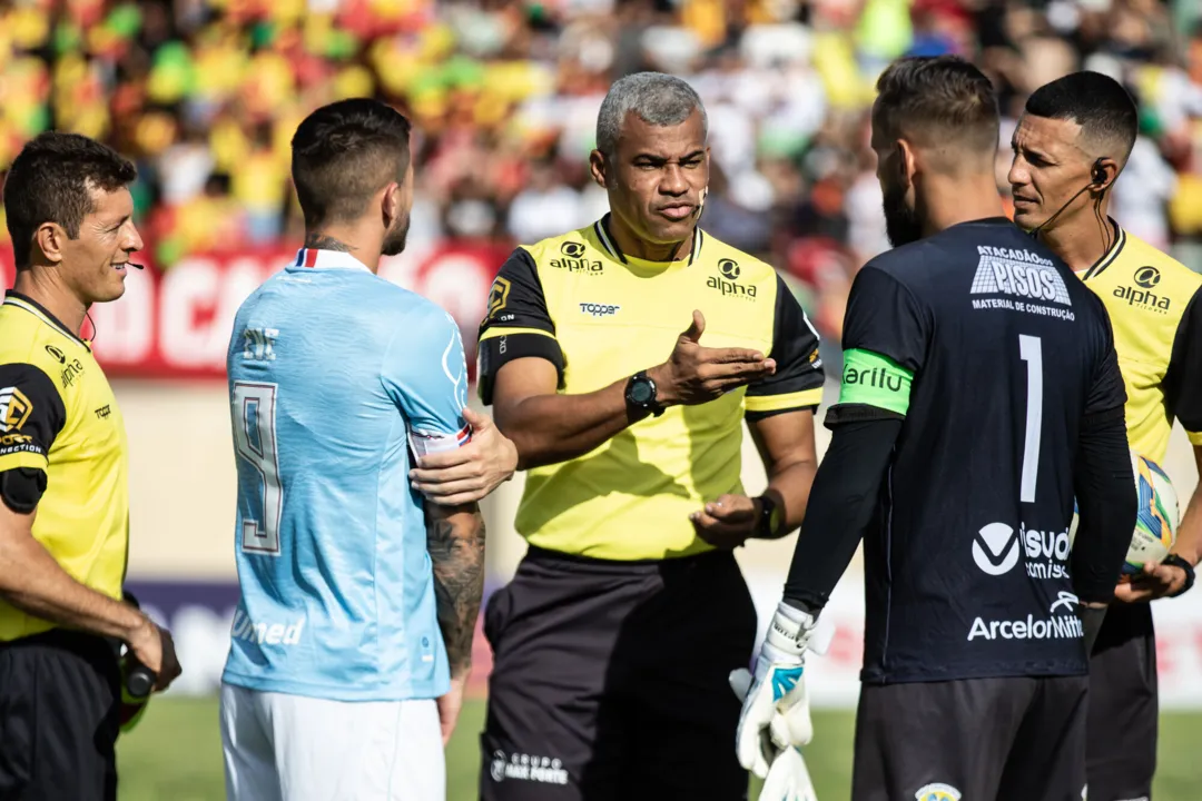
<svg viewBox="0 0 1202 801">
<path fill-rule="evenodd" d="M 775 359 L 776 372 L 748 387 L 746 418 L 756 420 L 781 412 L 817 408 L 825 381 L 819 335 L 779 275 L 768 355 Z"/>
</svg>

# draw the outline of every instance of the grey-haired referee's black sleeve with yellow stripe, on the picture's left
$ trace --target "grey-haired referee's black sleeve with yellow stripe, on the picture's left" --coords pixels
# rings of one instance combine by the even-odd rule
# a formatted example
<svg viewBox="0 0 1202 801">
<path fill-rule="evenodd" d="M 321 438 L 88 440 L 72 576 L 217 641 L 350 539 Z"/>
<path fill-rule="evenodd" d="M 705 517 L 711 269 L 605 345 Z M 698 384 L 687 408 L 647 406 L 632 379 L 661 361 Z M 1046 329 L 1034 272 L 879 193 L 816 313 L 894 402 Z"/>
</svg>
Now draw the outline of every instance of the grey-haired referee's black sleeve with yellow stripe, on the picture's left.
<svg viewBox="0 0 1202 801">
<path fill-rule="evenodd" d="M 564 352 L 555 339 L 555 323 L 534 257 L 518 247 L 505 259 L 488 293 L 488 311 L 480 324 L 480 397 L 493 402 L 493 379 L 513 359 L 535 357 L 555 365 L 564 381 Z"/>
</svg>

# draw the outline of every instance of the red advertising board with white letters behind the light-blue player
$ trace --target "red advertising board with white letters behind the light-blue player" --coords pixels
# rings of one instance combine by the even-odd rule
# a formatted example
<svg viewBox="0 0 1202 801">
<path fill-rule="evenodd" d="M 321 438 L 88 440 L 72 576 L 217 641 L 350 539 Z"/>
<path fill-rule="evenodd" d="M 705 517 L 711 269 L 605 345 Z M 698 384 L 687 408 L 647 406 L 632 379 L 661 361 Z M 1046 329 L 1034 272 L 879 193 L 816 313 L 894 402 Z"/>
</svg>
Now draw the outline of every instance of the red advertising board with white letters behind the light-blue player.
<svg viewBox="0 0 1202 801">
<path fill-rule="evenodd" d="M 148 249 L 148 251 L 151 249 Z M 463 331 L 469 371 L 475 375 L 476 328 L 488 304 L 493 276 L 510 253 L 504 245 L 444 241 L 385 257 L 380 276 L 446 309 Z M 125 295 L 91 309 L 96 359 L 111 376 L 147 378 L 224 378 L 234 313 L 268 276 L 296 258 L 279 245 L 239 253 L 192 255 L 165 273 L 143 253 L 135 261 Z M 0 250 L 0 277 L 13 281 L 12 251 Z M 353 322 L 353 310 L 347 310 Z"/>
</svg>

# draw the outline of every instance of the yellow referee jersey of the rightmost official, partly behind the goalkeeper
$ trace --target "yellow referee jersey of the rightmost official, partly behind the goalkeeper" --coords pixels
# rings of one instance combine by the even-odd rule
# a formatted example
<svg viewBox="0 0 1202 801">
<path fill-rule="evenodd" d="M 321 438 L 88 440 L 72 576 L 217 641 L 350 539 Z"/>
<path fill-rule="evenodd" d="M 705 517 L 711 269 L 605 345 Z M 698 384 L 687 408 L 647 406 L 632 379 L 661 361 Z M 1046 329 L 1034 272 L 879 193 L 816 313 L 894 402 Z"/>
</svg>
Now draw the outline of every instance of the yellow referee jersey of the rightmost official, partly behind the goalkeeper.
<svg viewBox="0 0 1202 801">
<path fill-rule="evenodd" d="M 1161 462 L 1174 419 L 1202 446 L 1202 275 L 1111 225 L 1114 244 L 1078 275 L 1111 316 L 1131 448 Z"/>
</svg>

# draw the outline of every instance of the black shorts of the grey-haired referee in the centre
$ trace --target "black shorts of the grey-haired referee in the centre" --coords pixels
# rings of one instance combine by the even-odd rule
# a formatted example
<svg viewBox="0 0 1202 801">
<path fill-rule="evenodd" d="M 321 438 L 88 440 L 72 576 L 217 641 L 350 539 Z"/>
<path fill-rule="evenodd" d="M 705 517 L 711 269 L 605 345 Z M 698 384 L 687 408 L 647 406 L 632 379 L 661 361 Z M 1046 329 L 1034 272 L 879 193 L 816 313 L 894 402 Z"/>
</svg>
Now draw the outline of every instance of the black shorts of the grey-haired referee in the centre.
<svg viewBox="0 0 1202 801">
<path fill-rule="evenodd" d="M 745 799 L 755 606 L 730 552 L 650 563 L 531 548 L 484 611 L 483 801 Z"/>
</svg>

